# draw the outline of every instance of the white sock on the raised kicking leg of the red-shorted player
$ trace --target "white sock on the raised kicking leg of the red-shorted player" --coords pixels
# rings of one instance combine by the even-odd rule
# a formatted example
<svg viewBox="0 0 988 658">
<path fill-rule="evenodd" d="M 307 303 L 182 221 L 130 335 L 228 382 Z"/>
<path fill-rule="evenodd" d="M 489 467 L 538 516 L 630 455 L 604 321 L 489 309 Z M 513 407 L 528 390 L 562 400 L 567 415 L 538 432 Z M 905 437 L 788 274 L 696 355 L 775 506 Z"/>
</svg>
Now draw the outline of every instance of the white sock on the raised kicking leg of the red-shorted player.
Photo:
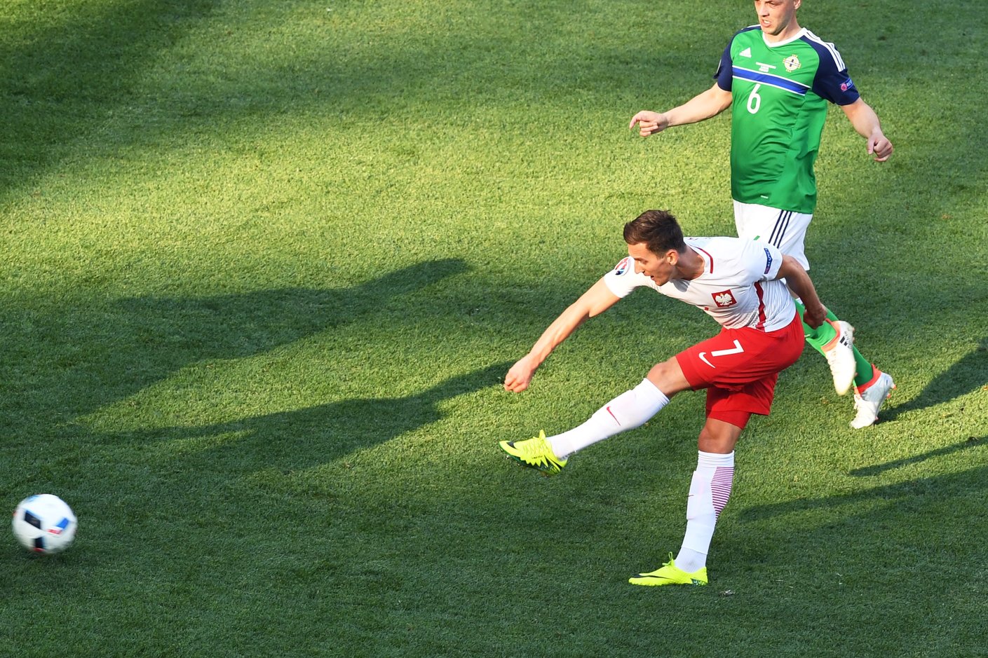
<svg viewBox="0 0 988 658">
<path fill-rule="evenodd" d="M 552 452 L 563 459 L 618 432 L 641 427 L 667 404 L 669 398 L 665 393 L 648 379 L 642 379 L 640 384 L 601 407 L 586 423 L 549 437 L 548 442 Z"/>
</svg>

